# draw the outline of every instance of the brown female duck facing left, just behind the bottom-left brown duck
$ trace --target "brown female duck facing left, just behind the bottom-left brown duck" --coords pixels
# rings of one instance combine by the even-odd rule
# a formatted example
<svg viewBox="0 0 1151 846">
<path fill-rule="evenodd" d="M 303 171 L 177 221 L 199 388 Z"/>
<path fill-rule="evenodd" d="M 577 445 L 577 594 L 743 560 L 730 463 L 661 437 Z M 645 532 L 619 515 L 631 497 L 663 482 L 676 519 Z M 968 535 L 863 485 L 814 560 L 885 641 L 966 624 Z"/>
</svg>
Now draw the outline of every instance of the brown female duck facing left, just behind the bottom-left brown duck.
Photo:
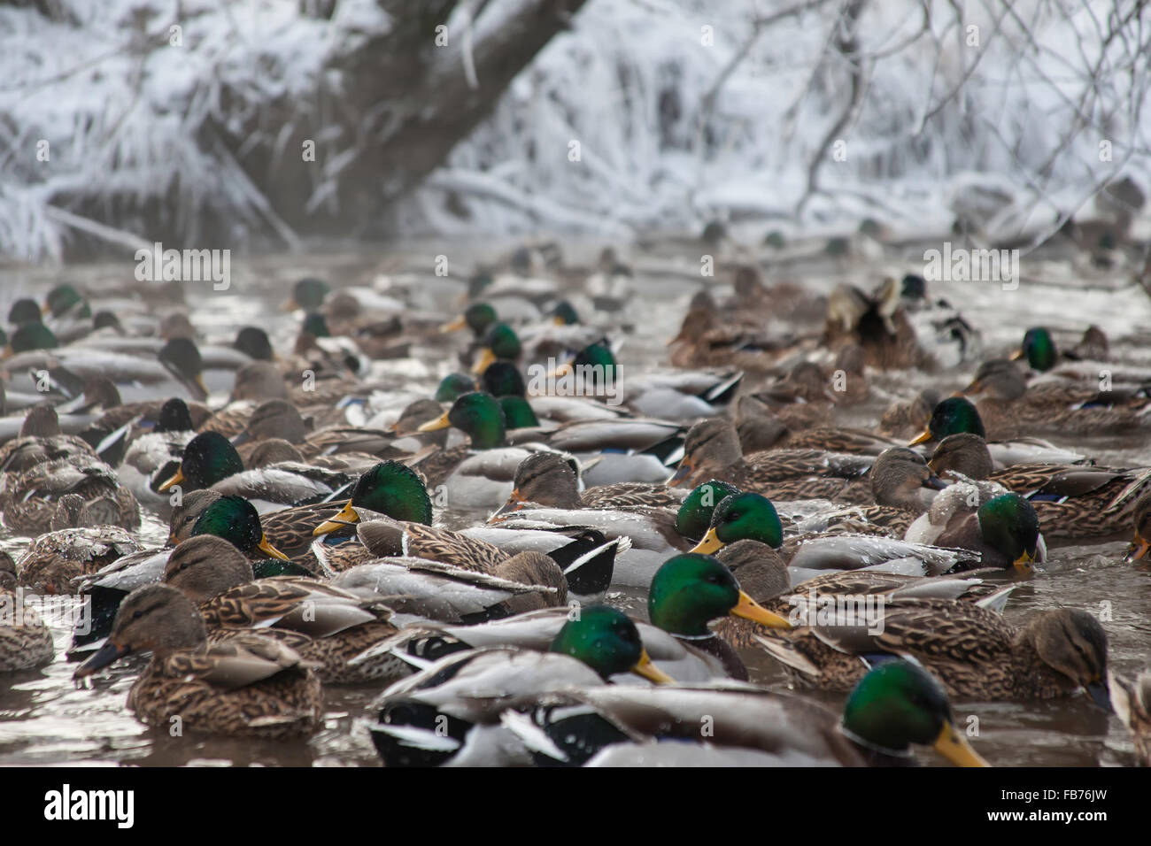
<svg viewBox="0 0 1151 846">
<path fill-rule="evenodd" d="M 259 630 L 314 664 L 326 684 L 394 680 L 406 674 L 404 664 L 387 654 L 349 664 L 397 631 L 389 619 L 391 611 L 379 601 L 315 579 L 257 580 L 249 561 L 220 538 L 200 535 L 177 546 L 168 556 L 163 581 L 196 603 L 213 642 L 219 642 L 214 635 L 220 633 Z M 290 634 L 281 637 L 281 632 Z"/>
</svg>

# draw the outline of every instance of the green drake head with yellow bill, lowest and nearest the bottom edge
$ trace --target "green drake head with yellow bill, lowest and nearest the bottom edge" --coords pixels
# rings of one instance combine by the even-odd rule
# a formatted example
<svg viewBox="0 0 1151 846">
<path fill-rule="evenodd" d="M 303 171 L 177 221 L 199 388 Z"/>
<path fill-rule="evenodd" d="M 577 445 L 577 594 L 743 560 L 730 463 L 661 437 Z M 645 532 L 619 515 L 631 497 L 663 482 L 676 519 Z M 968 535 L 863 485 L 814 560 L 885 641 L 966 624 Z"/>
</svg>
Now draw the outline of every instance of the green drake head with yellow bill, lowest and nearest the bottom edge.
<svg viewBox="0 0 1151 846">
<path fill-rule="evenodd" d="M 904 757 L 912 745 L 931 746 L 961 767 L 988 765 L 955 730 L 947 693 L 910 661 L 886 661 L 868 672 L 847 698 L 843 729 L 874 752 Z"/>
</svg>

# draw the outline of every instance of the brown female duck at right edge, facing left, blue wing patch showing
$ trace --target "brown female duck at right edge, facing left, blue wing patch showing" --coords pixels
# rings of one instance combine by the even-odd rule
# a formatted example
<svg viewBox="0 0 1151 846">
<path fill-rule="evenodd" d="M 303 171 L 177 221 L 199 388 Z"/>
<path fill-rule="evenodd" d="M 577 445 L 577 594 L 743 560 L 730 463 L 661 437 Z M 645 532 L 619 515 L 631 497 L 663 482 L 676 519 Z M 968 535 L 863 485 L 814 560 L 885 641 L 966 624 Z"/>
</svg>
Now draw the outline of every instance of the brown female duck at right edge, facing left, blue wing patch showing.
<svg viewBox="0 0 1151 846">
<path fill-rule="evenodd" d="M 986 480 L 1024 497 L 1051 538 L 1111 538 L 1127 531 L 1139 497 L 1151 485 L 1151 468 L 1074 464 L 1016 464 L 988 472 L 989 444 L 976 435 L 951 436 L 936 448 L 936 473 Z"/>
</svg>

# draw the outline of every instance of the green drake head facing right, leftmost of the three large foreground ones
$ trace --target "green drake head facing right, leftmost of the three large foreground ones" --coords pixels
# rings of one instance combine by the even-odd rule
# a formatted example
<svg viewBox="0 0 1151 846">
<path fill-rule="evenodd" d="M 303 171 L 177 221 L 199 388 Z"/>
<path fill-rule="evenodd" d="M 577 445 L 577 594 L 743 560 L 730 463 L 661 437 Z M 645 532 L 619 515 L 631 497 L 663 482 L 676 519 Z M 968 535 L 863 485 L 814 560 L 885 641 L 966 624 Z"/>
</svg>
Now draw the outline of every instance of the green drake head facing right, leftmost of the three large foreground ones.
<svg viewBox="0 0 1151 846">
<path fill-rule="evenodd" d="M 672 680 L 648 658 L 635 624 L 623 611 L 607 605 L 581 608 L 556 634 L 551 651 L 582 661 L 604 679 L 634 672 L 653 681 Z"/>
</svg>

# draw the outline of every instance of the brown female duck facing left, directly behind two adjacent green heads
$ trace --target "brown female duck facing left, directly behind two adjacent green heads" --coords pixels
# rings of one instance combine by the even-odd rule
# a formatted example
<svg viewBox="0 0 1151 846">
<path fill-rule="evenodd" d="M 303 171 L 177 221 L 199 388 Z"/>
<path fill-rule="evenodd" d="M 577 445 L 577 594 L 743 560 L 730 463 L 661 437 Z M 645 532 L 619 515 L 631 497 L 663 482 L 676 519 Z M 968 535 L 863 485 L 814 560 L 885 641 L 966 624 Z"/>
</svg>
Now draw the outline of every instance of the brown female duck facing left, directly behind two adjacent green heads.
<svg viewBox="0 0 1151 846">
<path fill-rule="evenodd" d="M 848 485 L 867 473 L 868 456 L 822 450 L 769 450 L 744 456 L 731 421 L 712 418 L 692 426 L 684 441 L 684 457 L 668 485 L 699 485 L 721 479 L 741 490 L 778 500 L 838 498 Z M 869 496 L 867 486 L 861 488 Z M 846 494 L 851 498 L 851 494 Z"/>
</svg>

